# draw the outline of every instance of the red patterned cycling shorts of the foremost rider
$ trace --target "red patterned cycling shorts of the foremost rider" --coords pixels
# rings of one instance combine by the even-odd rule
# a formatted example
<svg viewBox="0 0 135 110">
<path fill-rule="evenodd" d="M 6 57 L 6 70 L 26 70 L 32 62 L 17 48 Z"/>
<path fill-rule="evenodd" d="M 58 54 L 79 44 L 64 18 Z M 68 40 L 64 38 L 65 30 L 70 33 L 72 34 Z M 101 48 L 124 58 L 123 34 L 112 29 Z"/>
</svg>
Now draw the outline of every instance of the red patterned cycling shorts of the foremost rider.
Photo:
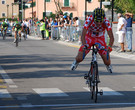
<svg viewBox="0 0 135 110">
<path fill-rule="evenodd" d="M 91 49 L 91 46 L 95 43 L 100 44 L 100 46 L 104 47 L 105 49 L 107 48 L 106 42 L 105 42 L 105 37 L 88 37 L 88 36 L 86 36 L 85 40 L 86 40 L 86 44 L 88 44 L 88 49 Z M 84 48 L 84 46 L 82 45 L 79 48 L 79 52 L 83 52 L 83 48 Z M 85 54 L 88 54 L 89 51 L 90 50 L 86 50 Z M 107 51 L 106 50 L 99 50 L 98 53 L 100 55 L 105 55 L 105 54 L 107 54 Z"/>
</svg>

